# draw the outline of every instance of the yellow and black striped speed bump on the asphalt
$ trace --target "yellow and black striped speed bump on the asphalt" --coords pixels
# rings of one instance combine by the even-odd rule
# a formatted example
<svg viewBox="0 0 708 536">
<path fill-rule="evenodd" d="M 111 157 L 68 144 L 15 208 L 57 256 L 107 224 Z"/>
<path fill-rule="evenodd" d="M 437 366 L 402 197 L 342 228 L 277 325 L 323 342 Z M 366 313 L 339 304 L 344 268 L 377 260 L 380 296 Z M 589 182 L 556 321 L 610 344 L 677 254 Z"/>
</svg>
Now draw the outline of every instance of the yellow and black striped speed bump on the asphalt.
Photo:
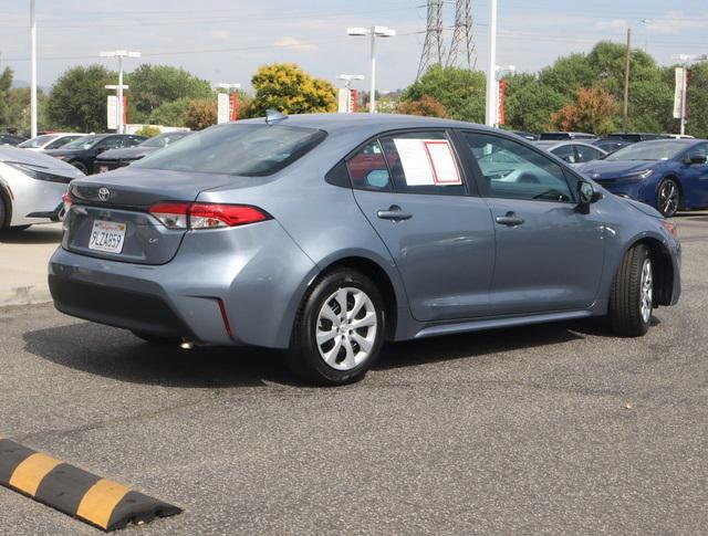
<svg viewBox="0 0 708 536">
<path fill-rule="evenodd" d="M 181 508 L 0 438 L 0 484 L 105 532 Z"/>
</svg>

